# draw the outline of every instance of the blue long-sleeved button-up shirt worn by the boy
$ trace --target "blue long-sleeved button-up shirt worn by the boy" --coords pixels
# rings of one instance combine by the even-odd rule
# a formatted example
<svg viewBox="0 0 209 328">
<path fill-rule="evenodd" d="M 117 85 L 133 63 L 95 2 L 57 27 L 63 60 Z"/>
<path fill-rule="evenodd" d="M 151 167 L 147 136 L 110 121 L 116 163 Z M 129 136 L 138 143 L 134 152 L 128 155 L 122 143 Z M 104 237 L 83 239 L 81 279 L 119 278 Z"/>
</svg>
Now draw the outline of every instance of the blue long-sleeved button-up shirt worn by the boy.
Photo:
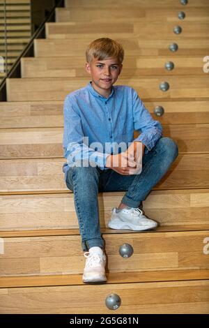
<svg viewBox="0 0 209 328">
<path fill-rule="evenodd" d="M 89 82 L 66 96 L 63 112 L 65 178 L 78 156 L 82 160 L 91 157 L 95 166 L 107 170 L 107 156 L 120 152 L 116 143 L 124 142 L 128 147 L 133 141 L 141 141 L 147 154 L 162 135 L 160 122 L 153 119 L 137 91 L 125 85 L 112 86 L 111 94 L 105 98 Z M 134 131 L 141 133 L 136 139 Z"/>
</svg>

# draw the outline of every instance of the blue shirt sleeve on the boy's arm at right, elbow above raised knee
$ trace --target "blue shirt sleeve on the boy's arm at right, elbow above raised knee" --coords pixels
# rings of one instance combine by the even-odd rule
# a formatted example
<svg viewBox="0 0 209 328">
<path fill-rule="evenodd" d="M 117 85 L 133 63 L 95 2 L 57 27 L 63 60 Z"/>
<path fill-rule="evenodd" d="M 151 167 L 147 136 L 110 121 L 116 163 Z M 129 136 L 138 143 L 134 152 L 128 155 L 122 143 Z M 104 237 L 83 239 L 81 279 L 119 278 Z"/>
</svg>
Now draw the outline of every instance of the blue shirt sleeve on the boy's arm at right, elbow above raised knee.
<svg viewBox="0 0 209 328">
<path fill-rule="evenodd" d="M 134 141 L 141 141 L 145 144 L 144 152 L 147 154 L 162 136 L 162 125 L 153 119 L 134 89 L 132 89 L 132 102 L 134 130 L 141 133 Z"/>
</svg>

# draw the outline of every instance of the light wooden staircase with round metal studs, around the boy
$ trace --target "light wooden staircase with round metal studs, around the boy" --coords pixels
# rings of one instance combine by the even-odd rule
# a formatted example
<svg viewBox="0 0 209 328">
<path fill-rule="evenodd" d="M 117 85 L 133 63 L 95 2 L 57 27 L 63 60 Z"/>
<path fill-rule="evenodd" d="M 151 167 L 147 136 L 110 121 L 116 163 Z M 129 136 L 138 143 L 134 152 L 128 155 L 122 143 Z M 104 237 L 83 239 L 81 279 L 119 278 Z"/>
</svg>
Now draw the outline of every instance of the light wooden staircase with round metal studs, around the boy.
<svg viewBox="0 0 209 328">
<path fill-rule="evenodd" d="M 106 0 L 100 8 L 95 0 L 66 0 L 57 8 L 47 38 L 35 41 L 34 58 L 22 58 L 22 77 L 7 80 L 8 101 L 0 103 L 1 313 L 209 313 L 208 18 L 207 0 Z M 143 202 L 159 223 L 155 231 L 108 229 L 125 192 L 99 194 L 108 281 L 86 285 L 62 172 L 63 100 L 89 81 L 86 46 L 102 36 L 125 48 L 116 84 L 138 91 L 179 156 Z M 174 42 L 177 52 L 169 50 Z M 175 68 L 166 70 L 166 61 Z M 118 253 L 122 244 L 132 245 L 130 258 Z M 116 311 L 105 306 L 112 293 L 121 297 Z"/>
</svg>

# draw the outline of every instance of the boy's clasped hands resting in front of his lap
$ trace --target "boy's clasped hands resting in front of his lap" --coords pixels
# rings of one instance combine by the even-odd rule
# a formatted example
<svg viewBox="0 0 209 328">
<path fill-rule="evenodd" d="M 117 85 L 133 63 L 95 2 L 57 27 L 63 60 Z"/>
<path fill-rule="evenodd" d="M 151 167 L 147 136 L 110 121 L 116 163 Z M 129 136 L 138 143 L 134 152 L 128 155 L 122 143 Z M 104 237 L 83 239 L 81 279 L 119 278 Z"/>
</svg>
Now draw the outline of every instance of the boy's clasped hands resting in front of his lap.
<svg viewBox="0 0 209 328">
<path fill-rule="evenodd" d="M 126 151 L 121 154 L 107 156 L 105 166 L 122 175 L 137 174 L 139 170 L 134 157 L 127 154 Z"/>
</svg>

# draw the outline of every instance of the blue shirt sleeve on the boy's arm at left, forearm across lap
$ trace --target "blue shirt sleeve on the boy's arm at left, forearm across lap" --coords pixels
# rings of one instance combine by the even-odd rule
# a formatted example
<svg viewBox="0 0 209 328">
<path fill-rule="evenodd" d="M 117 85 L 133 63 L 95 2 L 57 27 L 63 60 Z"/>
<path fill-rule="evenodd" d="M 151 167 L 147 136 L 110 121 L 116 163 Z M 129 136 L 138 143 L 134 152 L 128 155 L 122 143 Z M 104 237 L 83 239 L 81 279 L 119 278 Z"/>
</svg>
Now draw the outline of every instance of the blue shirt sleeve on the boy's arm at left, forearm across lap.
<svg viewBox="0 0 209 328">
<path fill-rule="evenodd" d="M 72 166 L 98 166 L 104 170 L 106 158 L 109 154 L 95 151 L 88 147 L 82 130 L 82 119 L 79 113 L 73 107 L 73 100 L 68 96 L 65 98 L 63 107 L 64 133 L 63 133 L 63 151 L 67 163 Z"/>
</svg>

